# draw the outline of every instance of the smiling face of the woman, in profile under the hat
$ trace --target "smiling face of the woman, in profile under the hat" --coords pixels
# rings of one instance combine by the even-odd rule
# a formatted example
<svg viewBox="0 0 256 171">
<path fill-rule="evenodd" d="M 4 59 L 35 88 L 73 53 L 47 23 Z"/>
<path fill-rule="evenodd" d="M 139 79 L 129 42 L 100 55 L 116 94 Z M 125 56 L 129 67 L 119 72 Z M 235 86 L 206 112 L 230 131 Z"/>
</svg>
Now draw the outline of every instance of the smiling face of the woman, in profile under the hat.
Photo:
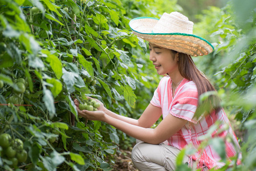
<svg viewBox="0 0 256 171">
<path fill-rule="evenodd" d="M 149 59 L 155 65 L 157 74 L 175 75 L 178 71 L 178 53 L 174 53 L 164 47 L 157 46 L 156 44 L 149 43 Z"/>
</svg>

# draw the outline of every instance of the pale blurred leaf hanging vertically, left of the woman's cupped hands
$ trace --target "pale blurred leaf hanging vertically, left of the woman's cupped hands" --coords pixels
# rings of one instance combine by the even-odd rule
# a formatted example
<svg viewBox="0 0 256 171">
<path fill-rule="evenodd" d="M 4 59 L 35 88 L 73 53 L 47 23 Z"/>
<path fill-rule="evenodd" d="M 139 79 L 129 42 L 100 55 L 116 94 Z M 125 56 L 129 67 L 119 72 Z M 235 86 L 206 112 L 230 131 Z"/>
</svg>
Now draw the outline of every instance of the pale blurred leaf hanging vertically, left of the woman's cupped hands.
<svg viewBox="0 0 256 171">
<path fill-rule="evenodd" d="M 43 102 L 47 110 L 49 111 L 50 118 L 54 117 L 54 114 L 56 112 L 54 106 L 54 97 L 52 97 L 51 91 L 45 86 L 43 86 Z"/>
</svg>

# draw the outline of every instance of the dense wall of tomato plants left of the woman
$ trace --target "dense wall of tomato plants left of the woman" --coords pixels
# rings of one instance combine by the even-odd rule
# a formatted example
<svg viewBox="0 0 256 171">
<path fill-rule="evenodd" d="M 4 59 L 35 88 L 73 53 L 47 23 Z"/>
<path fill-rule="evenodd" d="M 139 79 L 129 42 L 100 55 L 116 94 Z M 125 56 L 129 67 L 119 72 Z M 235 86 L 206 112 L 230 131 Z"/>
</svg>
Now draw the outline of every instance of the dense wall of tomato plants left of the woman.
<svg viewBox="0 0 256 171">
<path fill-rule="evenodd" d="M 154 89 L 148 81 L 157 86 L 159 77 L 147 76 L 152 70 L 141 74 L 150 63 L 147 57 L 131 58 L 143 56 L 147 47 L 128 26 L 137 12 L 125 12 L 143 5 L 2 2 L 0 135 L 10 137 L 9 145 L 1 146 L 0 169 L 111 169 L 117 145 L 131 146 L 128 136 L 100 121 L 78 119 L 73 100 L 84 104 L 86 96 L 95 97 L 127 116 L 143 111 L 145 105 L 135 104 L 141 99 L 136 87 L 147 87 L 143 99 L 151 98 Z M 88 101 L 84 108 L 95 111 L 99 105 Z M 3 154 L 7 148 L 10 156 L 17 152 L 14 157 Z"/>
</svg>

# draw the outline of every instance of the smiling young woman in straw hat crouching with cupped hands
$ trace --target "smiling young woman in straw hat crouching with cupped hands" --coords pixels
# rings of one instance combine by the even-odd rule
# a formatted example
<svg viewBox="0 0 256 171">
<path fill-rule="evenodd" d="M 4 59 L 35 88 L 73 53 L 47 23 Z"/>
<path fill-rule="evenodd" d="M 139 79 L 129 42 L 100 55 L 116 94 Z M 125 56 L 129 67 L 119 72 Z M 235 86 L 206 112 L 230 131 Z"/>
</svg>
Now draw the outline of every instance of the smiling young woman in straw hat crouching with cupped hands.
<svg viewBox="0 0 256 171">
<path fill-rule="evenodd" d="M 135 35 L 149 42 L 149 59 L 157 74 L 166 76 L 138 120 L 117 115 L 102 103 L 98 111 L 80 111 L 75 99 L 79 115 L 104 121 L 140 140 L 132 150 L 133 164 L 139 170 L 175 170 L 177 155 L 186 146 L 197 150 L 183 159 L 190 167 L 221 168 L 225 164 L 219 154 L 211 145 L 200 149 L 198 137 L 206 135 L 218 121 L 220 125 L 212 137 L 230 137 L 231 141 L 225 141 L 226 160 L 237 155 L 239 144 L 224 109 L 213 105 L 208 115 L 195 116 L 198 97 L 215 89 L 195 66 L 191 56 L 209 54 L 213 51 L 212 44 L 193 35 L 193 22 L 177 12 L 164 13 L 160 19 L 136 18 L 129 25 Z M 160 116 L 163 117 L 161 123 L 151 129 Z"/>
</svg>

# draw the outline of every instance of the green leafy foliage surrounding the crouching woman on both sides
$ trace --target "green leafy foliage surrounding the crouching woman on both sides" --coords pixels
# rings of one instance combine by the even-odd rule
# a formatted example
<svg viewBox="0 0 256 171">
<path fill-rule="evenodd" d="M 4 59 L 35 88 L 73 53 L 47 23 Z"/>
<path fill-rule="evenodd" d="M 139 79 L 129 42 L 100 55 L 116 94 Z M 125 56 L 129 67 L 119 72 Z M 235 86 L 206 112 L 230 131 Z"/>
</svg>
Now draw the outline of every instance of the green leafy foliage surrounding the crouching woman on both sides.
<svg viewBox="0 0 256 171">
<path fill-rule="evenodd" d="M 138 118 L 161 76 L 148 59 L 146 42 L 131 34 L 128 23 L 135 17 L 159 18 L 172 11 L 196 21 L 194 34 L 216 47 L 212 54 L 194 61 L 217 87 L 241 144 L 243 165 L 230 170 L 255 169 L 253 0 L 192 1 L 190 9 L 184 1 L 162 0 L 0 2 L 0 80 L 4 83 L 0 133 L 23 140 L 29 156 L 14 169 L 113 169 L 114 154 L 131 148 L 135 140 L 110 125 L 78 118 L 72 100 L 95 97 L 111 111 Z M 32 13 L 33 6 L 38 13 Z M 19 95 L 14 92 L 18 78 L 26 80 L 26 91 Z M 96 80 L 96 85 L 87 78 Z M 11 96 L 18 97 L 18 104 L 10 103 Z M 52 133 L 56 128 L 59 135 Z M 52 137 L 54 143 L 49 141 Z M 221 140 L 208 143 L 224 151 L 218 145 Z M 185 153 L 189 149 L 179 157 Z M 0 157 L 1 169 L 11 170 L 9 164 Z M 177 164 L 177 169 L 188 170 Z"/>
</svg>

